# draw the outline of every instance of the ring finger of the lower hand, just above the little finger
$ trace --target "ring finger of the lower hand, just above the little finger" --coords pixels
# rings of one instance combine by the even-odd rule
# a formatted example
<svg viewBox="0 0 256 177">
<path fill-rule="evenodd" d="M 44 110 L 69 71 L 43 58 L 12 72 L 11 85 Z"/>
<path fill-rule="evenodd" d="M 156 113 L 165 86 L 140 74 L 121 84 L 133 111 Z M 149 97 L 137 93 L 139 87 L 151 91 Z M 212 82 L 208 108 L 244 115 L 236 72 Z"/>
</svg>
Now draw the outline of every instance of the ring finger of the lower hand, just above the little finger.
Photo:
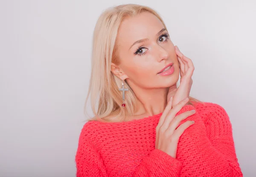
<svg viewBox="0 0 256 177">
<path fill-rule="evenodd" d="M 181 121 L 185 120 L 189 116 L 192 116 L 193 114 L 195 114 L 195 110 L 186 111 L 186 112 L 183 112 L 182 114 L 176 116 L 170 123 L 169 128 L 167 129 L 168 134 L 170 134 L 170 135 L 173 134 L 174 131 L 176 130 L 176 128 L 180 125 Z"/>
</svg>

